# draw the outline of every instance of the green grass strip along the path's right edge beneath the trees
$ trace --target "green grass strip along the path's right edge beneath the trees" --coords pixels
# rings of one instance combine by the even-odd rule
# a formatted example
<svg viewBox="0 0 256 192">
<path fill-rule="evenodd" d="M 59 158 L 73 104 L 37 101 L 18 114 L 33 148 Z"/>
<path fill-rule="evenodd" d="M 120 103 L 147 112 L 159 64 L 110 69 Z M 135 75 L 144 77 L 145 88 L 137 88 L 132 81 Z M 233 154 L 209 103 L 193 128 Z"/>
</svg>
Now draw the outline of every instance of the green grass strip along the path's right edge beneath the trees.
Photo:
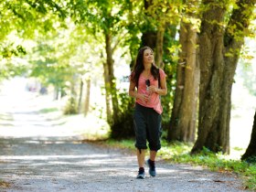
<svg viewBox="0 0 256 192">
<path fill-rule="evenodd" d="M 109 140 L 105 144 L 115 148 L 134 150 L 132 140 Z M 201 165 L 215 172 L 235 173 L 244 181 L 244 188 L 256 190 L 256 164 L 229 159 L 229 155 L 214 154 L 206 148 L 197 155 L 190 155 L 192 146 L 192 144 L 169 144 L 162 141 L 162 148 L 159 150 L 158 156 L 170 163 Z"/>
</svg>

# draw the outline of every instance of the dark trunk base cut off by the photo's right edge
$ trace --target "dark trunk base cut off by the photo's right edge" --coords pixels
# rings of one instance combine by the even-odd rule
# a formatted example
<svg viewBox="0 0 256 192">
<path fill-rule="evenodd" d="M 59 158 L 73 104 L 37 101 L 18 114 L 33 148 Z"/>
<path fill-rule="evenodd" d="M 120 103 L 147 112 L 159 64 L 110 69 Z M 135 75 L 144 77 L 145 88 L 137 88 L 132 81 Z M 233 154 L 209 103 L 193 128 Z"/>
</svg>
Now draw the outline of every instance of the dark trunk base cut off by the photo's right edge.
<svg viewBox="0 0 256 192">
<path fill-rule="evenodd" d="M 251 141 L 246 152 L 241 156 L 241 160 L 256 161 L 256 112 L 254 114 L 254 121 L 251 132 Z"/>
</svg>

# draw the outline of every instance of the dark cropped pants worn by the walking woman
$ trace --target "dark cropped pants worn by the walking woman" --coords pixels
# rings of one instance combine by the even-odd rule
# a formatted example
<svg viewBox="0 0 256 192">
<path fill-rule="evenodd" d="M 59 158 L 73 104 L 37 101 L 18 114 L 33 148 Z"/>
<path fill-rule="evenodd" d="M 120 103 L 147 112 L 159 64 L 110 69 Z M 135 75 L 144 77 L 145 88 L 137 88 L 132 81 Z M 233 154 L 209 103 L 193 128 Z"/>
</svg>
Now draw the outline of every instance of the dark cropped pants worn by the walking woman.
<svg viewBox="0 0 256 192">
<path fill-rule="evenodd" d="M 136 137 L 135 147 L 137 149 L 147 149 L 147 141 L 151 151 L 158 151 L 161 148 L 161 118 L 161 114 L 155 112 L 153 108 L 147 108 L 138 103 L 135 104 L 133 123 Z"/>
</svg>

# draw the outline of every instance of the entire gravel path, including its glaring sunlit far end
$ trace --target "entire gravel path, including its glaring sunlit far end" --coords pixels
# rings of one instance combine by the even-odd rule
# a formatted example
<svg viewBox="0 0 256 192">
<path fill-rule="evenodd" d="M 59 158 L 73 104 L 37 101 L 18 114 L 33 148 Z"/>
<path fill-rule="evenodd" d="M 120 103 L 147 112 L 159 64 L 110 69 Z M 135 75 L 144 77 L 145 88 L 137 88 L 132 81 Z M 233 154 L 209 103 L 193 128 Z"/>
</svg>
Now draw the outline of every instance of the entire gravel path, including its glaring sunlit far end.
<svg viewBox="0 0 256 192">
<path fill-rule="evenodd" d="M 37 113 L 32 98 L 0 99 L 0 181 L 10 184 L 0 191 L 244 191 L 234 175 L 164 161 L 157 176 L 136 179 L 135 155 L 80 142 L 58 118 Z"/>
</svg>

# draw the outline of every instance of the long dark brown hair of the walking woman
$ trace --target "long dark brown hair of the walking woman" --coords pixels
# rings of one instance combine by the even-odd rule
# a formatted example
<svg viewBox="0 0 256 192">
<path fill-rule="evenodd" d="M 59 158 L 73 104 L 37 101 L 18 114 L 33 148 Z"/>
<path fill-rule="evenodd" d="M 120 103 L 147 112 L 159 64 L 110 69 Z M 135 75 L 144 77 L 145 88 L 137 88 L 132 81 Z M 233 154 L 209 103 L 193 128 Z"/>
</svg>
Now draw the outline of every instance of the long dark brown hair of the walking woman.
<svg viewBox="0 0 256 192">
<path fill-rule="evenodd" d="M 144 71 L 144 50 L 150 49 L 153 52 L 152 48 L 149 48 L 147 46 L 140 48 L 139 52 L 137 54 L 136 63 L 133 67 L 133 71 L 131 74 L 131 80 L 136 84 L 136 87 L 138 87 L 138 81 L 140 78 L 141 73 Z M 155 67 L 155 64 L 152 63 L 151 66 L 151 74 L 153 75 L 154 79 L 158 79 L 158 69 Z"/>
</svg>

